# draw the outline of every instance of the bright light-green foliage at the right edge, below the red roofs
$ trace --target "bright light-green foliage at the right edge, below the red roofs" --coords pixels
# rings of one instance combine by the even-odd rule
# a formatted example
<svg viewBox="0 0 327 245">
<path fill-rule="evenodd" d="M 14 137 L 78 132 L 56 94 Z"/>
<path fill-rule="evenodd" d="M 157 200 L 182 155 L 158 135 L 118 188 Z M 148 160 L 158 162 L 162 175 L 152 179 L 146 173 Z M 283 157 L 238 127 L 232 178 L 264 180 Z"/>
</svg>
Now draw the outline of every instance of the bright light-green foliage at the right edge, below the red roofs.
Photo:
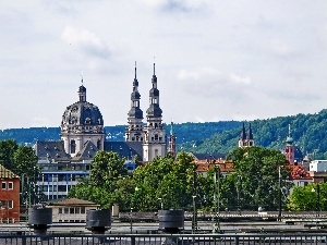
<svg viewBox="0 0 327 245">
<path fill-rule="evenodd" d="M 327 183 L 310 183 L 306 186 L 295 186 L 287 207 L 291 211 L 326 211 Z"/>
</svg>

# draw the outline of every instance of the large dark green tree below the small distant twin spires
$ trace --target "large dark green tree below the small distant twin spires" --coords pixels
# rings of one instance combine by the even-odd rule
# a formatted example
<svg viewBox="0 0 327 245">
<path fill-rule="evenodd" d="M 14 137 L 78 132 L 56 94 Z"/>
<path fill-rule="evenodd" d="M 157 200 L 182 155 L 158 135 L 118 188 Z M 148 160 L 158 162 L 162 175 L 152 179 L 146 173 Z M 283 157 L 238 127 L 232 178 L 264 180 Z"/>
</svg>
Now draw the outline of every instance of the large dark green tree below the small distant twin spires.
<svg viewBox="0 0 327 245">
<path fill-rule="evenodd" d="M 240 180 L 240 193 L 243 208 L 257 209 L 264 207 L 266 210 L 276 210 L 279 203 L 279 170 L 281 179 L 289 176 L 290 170 L 284 166 L 288 163 L 284 156 L 274 149 L 263 147 L 237 148 L 229 156 L 232 159 L 235 172 L 231 174 L 231 181 L 227 183 L 226 189 L 232 192 L 229 203 L 238 203 L 235 181 Z M 282 188 L 288 192 L 291 185 L 283 181 Z M 222 195 L 226 196 L 227 192 Z M 282 199 L 282 205 L 287 201 Z"/>
</svg>

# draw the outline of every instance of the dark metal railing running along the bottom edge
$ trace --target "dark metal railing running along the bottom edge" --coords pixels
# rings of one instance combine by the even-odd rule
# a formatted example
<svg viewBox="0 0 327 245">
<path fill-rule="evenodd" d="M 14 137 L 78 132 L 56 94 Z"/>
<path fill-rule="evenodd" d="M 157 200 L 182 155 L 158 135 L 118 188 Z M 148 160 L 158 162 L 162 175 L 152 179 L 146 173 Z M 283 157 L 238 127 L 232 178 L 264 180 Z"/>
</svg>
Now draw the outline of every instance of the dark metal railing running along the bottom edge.
<svg viewBox="0 0 327 245">
<path fill-rule="evenodd" d="M 1 235 L 0 244 L 12 245 L 323 245 L 326 233 L 270 234 L 150 234 L 150 235 Z"/>
</svg>

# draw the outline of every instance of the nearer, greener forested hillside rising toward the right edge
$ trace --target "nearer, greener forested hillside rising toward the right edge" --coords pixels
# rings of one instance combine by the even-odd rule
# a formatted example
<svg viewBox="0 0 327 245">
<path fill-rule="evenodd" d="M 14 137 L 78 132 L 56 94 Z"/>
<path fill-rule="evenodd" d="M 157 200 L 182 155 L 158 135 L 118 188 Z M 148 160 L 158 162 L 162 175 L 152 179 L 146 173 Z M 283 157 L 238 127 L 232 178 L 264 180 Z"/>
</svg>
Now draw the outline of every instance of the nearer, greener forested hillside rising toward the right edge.
<svg viewBox="0 0 327 245">
<path fill-rule="evenodd" d="M 315 159 L 327 159 L 327 110 L 322 110 L 315 114 L 296 114 L 289 117 L 278 117 L 267 120 L 255 120 L 249 123 L 258 146 L 282 149 L 291 126 L 291 136 L 294 145 L 303 155 L 310 154 Z M 187 151 L 195 152 L 230 152 L 238 146 L 238 139 L 242 127 L 217 133 L 206 138 L 202 144 L 191 140 L 183 144 Z"/>
</svg>

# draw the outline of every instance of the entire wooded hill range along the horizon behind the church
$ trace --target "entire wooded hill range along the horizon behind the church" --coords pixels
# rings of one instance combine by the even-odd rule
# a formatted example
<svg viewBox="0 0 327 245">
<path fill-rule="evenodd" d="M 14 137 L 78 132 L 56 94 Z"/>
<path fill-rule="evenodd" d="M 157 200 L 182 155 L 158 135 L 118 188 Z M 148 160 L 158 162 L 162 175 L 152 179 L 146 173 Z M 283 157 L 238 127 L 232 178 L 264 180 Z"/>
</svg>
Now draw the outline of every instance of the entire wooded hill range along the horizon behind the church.
<svg viewBox="0 0 327 245">
<path fill-rule="evenodd" d="M 238 147 L 242 131 L 241 121 L 222 121 L 206 123 L 179 123 L 173 125 L 177 136 L 178 151 L 193 152 L 230 152 Z M 327 109 L 315 114 L 296 114 L 278 117 L 249 123 L 255 139 L 255 145 L 282 149 L 291 126 L 294 145 L 314 159 L 327 159 Z M 125 125 L 106 126 L 107 140 L 124 140 Z M 170 124 L 166 125 L 169 135 Z M 12 138 L 20 145 L 34 145 L 36 140 L 59 140 L 60 127 L 9 128 L 0 131 L 0 140 Z"/>
</svg>

